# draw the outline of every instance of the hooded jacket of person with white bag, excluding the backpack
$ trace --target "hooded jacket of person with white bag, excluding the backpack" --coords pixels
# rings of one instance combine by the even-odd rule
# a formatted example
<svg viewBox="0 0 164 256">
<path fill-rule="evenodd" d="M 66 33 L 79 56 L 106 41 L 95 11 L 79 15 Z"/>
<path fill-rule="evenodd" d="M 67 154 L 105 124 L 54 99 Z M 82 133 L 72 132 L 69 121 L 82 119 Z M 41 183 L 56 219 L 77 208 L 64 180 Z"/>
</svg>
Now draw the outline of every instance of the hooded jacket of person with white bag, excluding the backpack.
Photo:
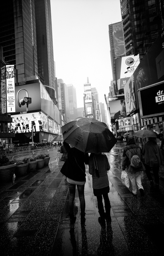
<svg viewBox="0 0 164 256">
<path fill-rule="evenodd" d="M 133 168 L 132 166 L 130 166 L 131 157 L 134 155 L 137 155 L 138 157 L 140 157 L 140 160 L 142 161 L 142 167 Z M 144 156 L 142 154 L 142 150 L 140 146 L 136 145 L 135 139 L 133 136 L 129 136 L 123 151 L 123 159 L 122 159 L 123 171 L 125 169 L 129 173 L 135 173 L 137 171 L 145 171 L 145 166 L 143 165 L 143 163 L 145 163 L 145 161 L 144 161 Z"/>
</svg>

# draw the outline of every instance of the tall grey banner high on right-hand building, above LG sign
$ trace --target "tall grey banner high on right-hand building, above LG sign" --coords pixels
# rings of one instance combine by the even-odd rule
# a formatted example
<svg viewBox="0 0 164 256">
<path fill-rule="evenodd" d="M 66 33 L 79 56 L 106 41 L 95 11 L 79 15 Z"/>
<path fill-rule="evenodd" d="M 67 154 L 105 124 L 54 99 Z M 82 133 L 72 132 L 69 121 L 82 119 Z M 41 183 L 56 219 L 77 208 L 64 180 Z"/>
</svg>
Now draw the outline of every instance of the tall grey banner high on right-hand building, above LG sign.
<svg viewBox="0 0 164 256">
<path fill-rule="evenodd" d="M 111 25 L 112 26 L 112 36 L 114 43 L 114 55 L 115 57 L 125 55 L 125 42 L 123 35 L 123 23 L 117 22 Z"/>
</svg>

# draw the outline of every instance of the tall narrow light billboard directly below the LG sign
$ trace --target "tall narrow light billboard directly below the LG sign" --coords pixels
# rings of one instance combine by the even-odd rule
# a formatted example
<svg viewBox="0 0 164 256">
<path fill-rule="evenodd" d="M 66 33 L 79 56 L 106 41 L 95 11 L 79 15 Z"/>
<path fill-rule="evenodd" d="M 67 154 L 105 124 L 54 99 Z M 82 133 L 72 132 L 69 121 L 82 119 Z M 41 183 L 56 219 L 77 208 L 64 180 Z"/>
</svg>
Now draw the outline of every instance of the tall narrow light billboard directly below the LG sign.
<svg viewBox="0 0 164 256">
<path fill-rule="evenodd" d="M 129 78 L 128 82 L 124 87 L 124 95 L 125 95 L 125 104 L 126 104 L 126 114 L 128 115 L 131 112 L 136 110 L 133 75 Z"/>
</svg>

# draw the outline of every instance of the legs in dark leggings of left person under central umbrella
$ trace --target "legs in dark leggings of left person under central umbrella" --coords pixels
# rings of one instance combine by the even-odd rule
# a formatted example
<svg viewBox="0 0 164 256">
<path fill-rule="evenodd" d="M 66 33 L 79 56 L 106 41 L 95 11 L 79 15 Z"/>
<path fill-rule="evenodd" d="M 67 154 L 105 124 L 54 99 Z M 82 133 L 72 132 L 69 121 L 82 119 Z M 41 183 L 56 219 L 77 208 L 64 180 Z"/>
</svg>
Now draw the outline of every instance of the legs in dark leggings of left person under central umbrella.
<svg viewBox="0 0 164 256">
<path fill-rule="evenodd" d="M 84 186 L 85 185 L 77 185 L 78 193 L 79 193 L 79 200 L 80 200 L 81 215 L 85 215 Z M 76 184 L 70 184 L 68 182 L 68 187 L 69 187 L 69 214 L 71 214 L 71 213 L 73 213 Z"/>
</svg>

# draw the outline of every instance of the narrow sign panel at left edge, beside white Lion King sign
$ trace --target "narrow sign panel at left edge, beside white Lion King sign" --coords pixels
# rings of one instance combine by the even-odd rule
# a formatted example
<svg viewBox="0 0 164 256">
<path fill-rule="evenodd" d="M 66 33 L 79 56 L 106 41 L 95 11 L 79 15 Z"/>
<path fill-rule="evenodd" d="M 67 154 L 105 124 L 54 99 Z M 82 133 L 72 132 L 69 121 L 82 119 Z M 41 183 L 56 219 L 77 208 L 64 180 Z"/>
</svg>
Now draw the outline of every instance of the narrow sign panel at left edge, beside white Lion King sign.
<svg viewBox="0 0 164 256">
<path fill-rule="evenodd" d="M 1 67 L 1 113 L 6 113 L 6 68 Z"/>
</svg>

